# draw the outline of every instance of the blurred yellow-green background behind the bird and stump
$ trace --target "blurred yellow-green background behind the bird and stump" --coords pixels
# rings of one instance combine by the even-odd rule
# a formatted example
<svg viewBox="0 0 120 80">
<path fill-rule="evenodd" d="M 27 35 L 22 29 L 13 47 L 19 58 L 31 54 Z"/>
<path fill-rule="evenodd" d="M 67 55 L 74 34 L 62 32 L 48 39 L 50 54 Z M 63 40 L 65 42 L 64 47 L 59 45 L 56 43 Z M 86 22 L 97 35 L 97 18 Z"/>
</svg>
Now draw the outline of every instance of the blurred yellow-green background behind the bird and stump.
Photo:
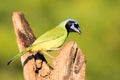
<svg viewBox="0 0 120 80">
<path fill-rule="evenodd" d="M 67 18 L 78 20 L 82 35 L 70 34 L 87 58 L 87 80 L 120 80 L 120 0 L 0 0 L 0 80 L 23 80 L 12 13 L 21 11 L 38 37 Z"/>
</svg>

